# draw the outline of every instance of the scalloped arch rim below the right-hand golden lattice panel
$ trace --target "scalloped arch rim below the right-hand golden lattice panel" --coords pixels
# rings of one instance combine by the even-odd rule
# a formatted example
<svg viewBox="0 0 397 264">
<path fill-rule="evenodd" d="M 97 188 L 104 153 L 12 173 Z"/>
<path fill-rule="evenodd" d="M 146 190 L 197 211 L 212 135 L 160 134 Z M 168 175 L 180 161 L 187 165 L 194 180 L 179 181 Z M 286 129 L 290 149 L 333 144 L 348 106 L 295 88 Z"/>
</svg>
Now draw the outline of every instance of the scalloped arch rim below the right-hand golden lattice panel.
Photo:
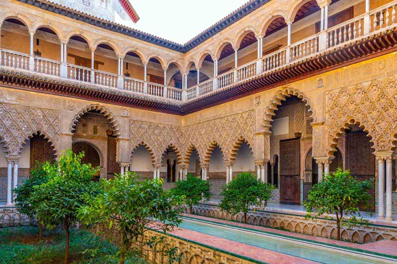
<svg viewBox="0 0 397 264">
<path fill-rule="evenodd" d="M 376 142 L 374 140 L 374 137 L 372 135 L 372 132 L 368 127 L 366 127 L 362 120 L 354 117 L 349 117 L 347 118 L 344 122 L 342 122 L 342 125 L 340 125 L 336 131 L 332 134 L 330 142 L 328 142 L 328 148 L 327 148 L 327 154 L 330 157 L 335 157 L 334 153 L 337 151 L 337 145 L 339 144 L 338 139 L 342 138 L 342 135 L 345 134 L 346 129 L 350 129 L 349 125 L 358 125 L 360 128 L 363 128 L 364 132 L 366 132 L 368 135 L 367 137 L 370 137 L 370 142 L 373 144 L 371 148 L 373 148 L 376 151 L 378 151 L 378 148 L 376 146 Z"/>
</svg>

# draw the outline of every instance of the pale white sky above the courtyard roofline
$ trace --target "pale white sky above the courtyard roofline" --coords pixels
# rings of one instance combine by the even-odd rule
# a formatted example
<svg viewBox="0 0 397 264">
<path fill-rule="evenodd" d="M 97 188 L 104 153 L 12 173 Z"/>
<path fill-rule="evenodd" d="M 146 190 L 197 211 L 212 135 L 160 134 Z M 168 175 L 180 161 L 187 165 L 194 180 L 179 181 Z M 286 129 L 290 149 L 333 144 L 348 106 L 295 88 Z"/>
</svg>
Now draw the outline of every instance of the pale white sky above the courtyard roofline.
<svg viewBox="0 0 397 264">
<path fill-rule="evenodd" d="M 185 44 L 248 0 L 130 0 L 140 19 L 131 27 Z"/>
</svg>

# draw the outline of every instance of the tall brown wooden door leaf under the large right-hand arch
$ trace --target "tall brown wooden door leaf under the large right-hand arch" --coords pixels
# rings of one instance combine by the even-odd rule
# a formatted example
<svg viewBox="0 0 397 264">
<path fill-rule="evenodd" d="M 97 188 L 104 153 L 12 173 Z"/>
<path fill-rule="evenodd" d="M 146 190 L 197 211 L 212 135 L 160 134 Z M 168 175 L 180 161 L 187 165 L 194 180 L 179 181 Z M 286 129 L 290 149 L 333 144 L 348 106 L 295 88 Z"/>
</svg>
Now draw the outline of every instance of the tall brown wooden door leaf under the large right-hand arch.
<svg viewBox="0 0 397 264">
<path fill-rule="evenodd" d="M 280 141 L 280 203 L 301 202 L 300 150 L 299 139 Z"/>
</svg>

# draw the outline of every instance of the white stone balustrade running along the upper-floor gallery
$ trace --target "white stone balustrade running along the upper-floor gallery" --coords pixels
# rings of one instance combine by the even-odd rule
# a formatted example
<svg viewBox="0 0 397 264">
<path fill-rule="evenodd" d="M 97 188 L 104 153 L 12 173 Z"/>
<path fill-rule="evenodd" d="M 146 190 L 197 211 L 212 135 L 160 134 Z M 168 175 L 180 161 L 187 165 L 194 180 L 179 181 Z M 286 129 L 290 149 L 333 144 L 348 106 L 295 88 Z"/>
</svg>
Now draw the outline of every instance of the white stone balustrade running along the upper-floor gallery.
<svg viewBox="0 0 397 264">
<path fill-rule="evenodd" d="M 209 93 L 216 93 L 217 90 L 227 89 L 231 85 L 291 63 L 314 57 L 328 49 L 355 42 L 369 34 L 373 35 L 393 28 L 397 24 L 396 5 L 397 1 L 390 2 L 185 90 L 7 49 L 0 49 L 0 66 L 21 72 L 36 72 L 39 75 L 57 77 L 63 81 L 75 80 L 122 89 L 134 94 L 186 102 L 197 100 Z"/>
</svg>

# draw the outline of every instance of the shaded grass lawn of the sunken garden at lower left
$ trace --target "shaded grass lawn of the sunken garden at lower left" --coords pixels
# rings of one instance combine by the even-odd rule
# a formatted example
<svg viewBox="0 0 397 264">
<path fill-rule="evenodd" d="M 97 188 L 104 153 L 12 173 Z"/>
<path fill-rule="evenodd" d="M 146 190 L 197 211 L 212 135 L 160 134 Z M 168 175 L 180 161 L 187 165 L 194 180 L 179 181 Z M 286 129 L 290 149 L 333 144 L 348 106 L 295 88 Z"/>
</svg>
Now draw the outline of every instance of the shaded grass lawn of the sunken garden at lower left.
<svg viewBox="0 0 397 264">
<path fill-rule="evenodd" d="M 38 241 L 38 227 L 0 228 L 0 263 L 2 264 L 62 264 L 65 254 L 65 231 L 43 230 Z M 98 249 L 96 255 L 83 254 L 86 249 Z M 119 248 L 86 230 L 70 230 L 70 264 L 117 264 Z M 128 256 L 125 264 L 144 264 Z"/>
</svg>

